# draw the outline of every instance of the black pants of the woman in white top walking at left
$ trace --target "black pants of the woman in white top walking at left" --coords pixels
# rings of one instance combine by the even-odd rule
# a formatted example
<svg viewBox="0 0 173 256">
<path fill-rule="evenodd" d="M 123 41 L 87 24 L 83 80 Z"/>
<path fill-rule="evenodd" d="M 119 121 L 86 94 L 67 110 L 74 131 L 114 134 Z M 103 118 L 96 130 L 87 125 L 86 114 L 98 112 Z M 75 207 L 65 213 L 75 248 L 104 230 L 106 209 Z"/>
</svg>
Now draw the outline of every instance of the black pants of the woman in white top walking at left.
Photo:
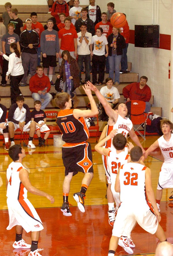
<svg viewBox="0 0 173 256">
<path fill-rule="evenodd" d="M 19 76 L 10 76 L 10 93 L 11 93 L 11 103 L 16 103 L 16 97 L 19 96 L 19 94 L 22 94 L 19 89 L 19 83 L 22 80 L 24 74 Z"/>
</svg>

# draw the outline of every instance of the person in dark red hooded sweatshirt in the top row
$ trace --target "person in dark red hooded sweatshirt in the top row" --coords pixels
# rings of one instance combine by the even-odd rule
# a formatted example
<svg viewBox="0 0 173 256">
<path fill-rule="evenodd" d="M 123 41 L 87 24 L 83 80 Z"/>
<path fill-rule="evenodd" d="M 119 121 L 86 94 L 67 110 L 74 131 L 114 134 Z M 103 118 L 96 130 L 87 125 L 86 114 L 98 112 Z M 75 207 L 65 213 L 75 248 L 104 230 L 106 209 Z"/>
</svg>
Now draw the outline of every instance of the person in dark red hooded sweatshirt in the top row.
<svg viewBox="0 0 173 256">
<path fill-rule="evenodd" d="M 68 4 L 64 0 L 57 0 L 54 2 L 51 11 L 51 15 L 55 17 L 57 25 L 61 22 L 59 19 L 59 14 L 61 12 L 64 12 L 66 17 L 69 16 Z"/>
</svg>

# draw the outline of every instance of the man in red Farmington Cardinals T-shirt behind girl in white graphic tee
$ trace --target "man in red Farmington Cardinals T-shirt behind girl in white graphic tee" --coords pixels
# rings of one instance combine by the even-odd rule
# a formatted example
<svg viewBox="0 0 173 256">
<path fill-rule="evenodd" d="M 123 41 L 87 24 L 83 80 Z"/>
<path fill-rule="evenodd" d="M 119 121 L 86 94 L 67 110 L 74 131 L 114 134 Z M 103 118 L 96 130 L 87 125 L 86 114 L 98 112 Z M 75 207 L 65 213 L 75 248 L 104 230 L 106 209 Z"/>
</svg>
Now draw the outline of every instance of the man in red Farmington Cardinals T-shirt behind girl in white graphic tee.
<svg viewBox="0 0 173 256">
<path fill-rule="evenodd" d="M 95 25 L 95 32 L 97 28 L 103 29 L 103 35 L 108 37 L 112 33 L 112 24 L 107 21 L 107 13 L 102 12 L 101 14 L 101 21 Z M 106 58 L 106 74 L 109 73 L 109 60 L 108 57 Z"/>
</svg>

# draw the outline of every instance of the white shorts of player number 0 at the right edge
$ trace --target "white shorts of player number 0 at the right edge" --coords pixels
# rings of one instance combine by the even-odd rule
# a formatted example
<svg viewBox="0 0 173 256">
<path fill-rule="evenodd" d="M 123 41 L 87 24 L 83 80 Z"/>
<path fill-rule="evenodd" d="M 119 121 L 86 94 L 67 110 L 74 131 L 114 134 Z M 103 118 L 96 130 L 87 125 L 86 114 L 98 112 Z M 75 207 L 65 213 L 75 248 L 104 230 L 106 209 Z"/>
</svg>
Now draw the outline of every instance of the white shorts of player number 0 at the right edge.
<svg viewBox="0 0 173 256">
<path fill-rule="evenodd" d="M 173 188 L 173 164 L 163 163 L 159 173 L 157 189 Z"/>
</svg>

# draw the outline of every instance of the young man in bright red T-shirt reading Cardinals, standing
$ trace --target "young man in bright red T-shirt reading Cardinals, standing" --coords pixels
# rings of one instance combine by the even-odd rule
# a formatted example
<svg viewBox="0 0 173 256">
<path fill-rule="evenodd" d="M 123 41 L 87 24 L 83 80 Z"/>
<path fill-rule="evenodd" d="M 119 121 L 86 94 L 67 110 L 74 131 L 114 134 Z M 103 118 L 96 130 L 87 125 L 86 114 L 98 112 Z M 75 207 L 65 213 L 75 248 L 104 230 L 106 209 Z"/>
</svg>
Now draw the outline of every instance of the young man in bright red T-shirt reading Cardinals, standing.
<svg viewBox="0 0 173 256">
<path fill-rule="evenodd" d="M 59 36 L 59 47 L 60 47 L 60 51 L 59 51 L 59 65 L 61 66 L 61 62 L 62 62 L 62 58 L 61 58 L 61 53 L 64 50 L 69 51 L 70 55 L 76 59 L 78 52 L 77 52 L 77 48 L 78 48 L 78 43 L 77 43 L 77 32 L 75 29 L 70 28 L 70 24 L 71 24 L 71 19 L 70 18 L 66 18 L 64 20 L 64 24 L 65 24 L 65 28 L 62 28 L 61 30 L 59 30 L 58 32 L 58 36 Z"/>
</svg>

